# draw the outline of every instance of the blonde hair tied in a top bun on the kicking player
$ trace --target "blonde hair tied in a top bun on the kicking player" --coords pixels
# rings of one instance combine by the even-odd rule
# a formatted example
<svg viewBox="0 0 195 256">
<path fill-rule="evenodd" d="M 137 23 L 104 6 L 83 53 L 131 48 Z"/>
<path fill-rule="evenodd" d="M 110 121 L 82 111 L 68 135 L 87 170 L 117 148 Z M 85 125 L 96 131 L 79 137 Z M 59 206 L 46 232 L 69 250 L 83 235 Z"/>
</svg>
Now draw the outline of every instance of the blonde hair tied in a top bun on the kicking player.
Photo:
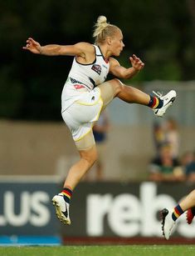
<svg viewBox="0 0 195 256">
<path fill-rule="evenodd" d="M 105 16 L 99 16 L 97 22 L 95 23 L 95 30 L 93 37 L 95 38 L 95 43 L 103 43 L 105 38 L 112 37 L 120 29 L 115 25 L 107 23 L 107 18 Z"/>
</svg>

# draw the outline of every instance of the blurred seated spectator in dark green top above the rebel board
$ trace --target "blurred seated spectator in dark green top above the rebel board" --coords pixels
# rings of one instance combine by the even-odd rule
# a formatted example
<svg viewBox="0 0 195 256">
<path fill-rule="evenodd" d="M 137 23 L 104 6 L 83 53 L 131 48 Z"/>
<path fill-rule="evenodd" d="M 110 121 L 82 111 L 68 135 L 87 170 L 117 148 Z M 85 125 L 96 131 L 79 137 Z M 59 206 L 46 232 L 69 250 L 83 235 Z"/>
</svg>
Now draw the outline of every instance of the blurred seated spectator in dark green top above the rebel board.
<svg viewBox="0 0 195 256">
<path fill-rule="evenodd" d="M 149 179 L 154 182 L 183 181 L 185 175 L 178 160 L 173 158 L 169 145 L 163 145 L 160 154 L 149 164 Z"/>
</svg>

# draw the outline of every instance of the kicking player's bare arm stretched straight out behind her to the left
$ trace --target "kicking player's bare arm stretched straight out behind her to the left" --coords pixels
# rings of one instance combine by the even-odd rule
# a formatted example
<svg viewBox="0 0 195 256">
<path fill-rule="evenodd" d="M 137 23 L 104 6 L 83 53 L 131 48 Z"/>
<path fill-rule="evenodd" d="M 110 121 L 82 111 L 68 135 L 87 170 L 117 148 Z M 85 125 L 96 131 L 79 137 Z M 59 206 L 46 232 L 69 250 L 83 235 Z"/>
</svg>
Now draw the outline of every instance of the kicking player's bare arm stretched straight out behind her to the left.
<svg viewBox="0 0 195 256">
<path fill-rule="evenodd" d="M 32 53 L 43 54 L 49 56 L 55 55 L 71 55 L 85 58 L 85 48 L 87 43 L 76 43 L 74 45 L 58 45 L 48 44 L 41 46 L 40 43 L 36 42 L 32 38 L 27 39 L 27 45 L 23 47 L 24 50 L 28 50 Z"/>
</svg>

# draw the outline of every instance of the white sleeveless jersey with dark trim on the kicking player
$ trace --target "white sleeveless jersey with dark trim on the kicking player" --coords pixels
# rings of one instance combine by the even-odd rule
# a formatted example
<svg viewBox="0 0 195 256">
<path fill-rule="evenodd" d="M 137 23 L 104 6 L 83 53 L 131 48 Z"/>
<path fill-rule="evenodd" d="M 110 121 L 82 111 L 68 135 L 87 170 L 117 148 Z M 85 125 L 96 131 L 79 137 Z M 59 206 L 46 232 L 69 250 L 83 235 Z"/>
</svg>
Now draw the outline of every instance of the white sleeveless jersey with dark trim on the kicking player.
<svg viewBox="0 0 195 256">
<path fill-rule="evenodd" d="M 90 64 L 81 64 L 73 60 L 71 71 L 61 93 L 61 111 L 66 110 L 72 103 L 80 98 L 80 88 L 91 91 L 95 86 L 104 83 L 109 73 L 110 62 L 105 58 L 100 48 L 95 47 L 95 61 Z"/>
</svg>

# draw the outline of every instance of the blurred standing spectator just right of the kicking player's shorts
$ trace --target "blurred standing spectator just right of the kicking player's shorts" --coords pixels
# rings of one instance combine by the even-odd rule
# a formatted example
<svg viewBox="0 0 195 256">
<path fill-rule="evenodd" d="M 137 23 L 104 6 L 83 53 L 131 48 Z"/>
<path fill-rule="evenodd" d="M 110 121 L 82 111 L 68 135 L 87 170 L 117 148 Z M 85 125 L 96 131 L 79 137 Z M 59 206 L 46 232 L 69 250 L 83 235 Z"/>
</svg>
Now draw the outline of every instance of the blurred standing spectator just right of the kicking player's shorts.
<svg viewBox="0 0 195 256">
<path fill-rule="evenodd" d="M 105 109 L 100 113 L 100 118 L 95 123 L 93 128 L 94 138 L 97 146 L 97 151 L 99 158 L 95 163 L 95 176 L 96 180 L 103 179 L 104 172 L 104 158 L 106 153 L 106 142 L 107 142 L 107 133 L 110 129 L 110 120 L 107 110 Z"/>
</svg>

